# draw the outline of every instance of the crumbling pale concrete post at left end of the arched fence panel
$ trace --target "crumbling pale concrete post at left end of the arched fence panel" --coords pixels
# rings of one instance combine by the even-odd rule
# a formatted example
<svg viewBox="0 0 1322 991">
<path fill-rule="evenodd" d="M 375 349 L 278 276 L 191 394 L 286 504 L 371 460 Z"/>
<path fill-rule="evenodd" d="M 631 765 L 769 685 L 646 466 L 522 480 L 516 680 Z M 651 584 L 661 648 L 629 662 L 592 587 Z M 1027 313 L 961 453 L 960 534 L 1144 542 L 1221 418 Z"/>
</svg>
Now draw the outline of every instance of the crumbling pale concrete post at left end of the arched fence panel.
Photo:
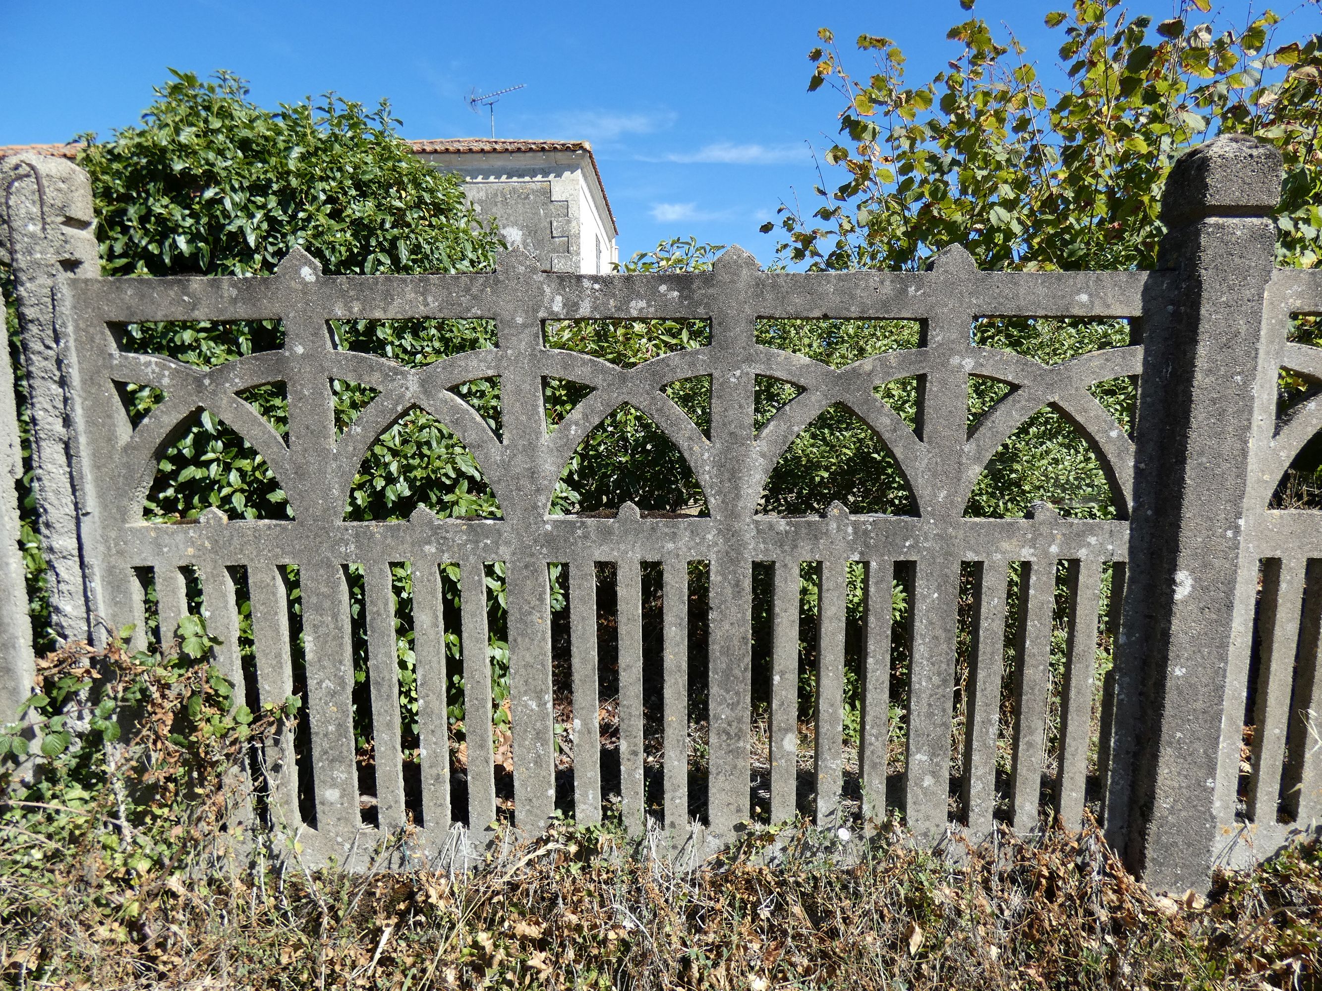
<svg viewBox="0 0 1322 991">
<path fill-rule="evenodd" d="M 0 161 L 5 242 L 15 277 L 32 423 L 37 526 L 46 556 L 50 625 L 61 640 L 91 640 L 99 613 L 85 567 L 62 276 L 98 276 L 91 181 L 66 159 L 13 155 Z M 30 659 L 30 658 L 29 658 Z"/>
</svg>

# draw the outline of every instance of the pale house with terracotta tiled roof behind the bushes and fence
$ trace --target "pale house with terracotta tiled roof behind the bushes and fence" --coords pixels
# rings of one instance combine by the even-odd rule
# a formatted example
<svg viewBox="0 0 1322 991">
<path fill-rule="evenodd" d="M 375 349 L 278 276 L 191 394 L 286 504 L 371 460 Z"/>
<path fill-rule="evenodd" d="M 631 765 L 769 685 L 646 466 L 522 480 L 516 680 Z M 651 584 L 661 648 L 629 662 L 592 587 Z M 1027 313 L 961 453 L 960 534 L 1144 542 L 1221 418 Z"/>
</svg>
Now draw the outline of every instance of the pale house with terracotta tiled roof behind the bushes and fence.
<svg viewBox="0 0 1322 991">
<path fill-rule="evenodd" d="M 408 141 L 432 168 L 456 173 L 473 209 L 494 217 L 505 243 L 553 272 L 600 275 L 619 260 L 617 229 L 587 141 L 449 137 Z M 74 157 L 75 144 L 0 147 Z"/>
</svg>

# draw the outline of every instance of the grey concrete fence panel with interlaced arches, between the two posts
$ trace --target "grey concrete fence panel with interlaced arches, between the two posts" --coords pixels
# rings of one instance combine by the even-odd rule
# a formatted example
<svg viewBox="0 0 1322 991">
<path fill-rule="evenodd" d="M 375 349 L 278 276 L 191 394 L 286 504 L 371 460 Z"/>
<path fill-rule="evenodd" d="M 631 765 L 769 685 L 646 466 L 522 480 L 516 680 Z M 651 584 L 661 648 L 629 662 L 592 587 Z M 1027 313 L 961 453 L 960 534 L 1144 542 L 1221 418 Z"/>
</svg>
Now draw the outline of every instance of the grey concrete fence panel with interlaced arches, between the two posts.
<svg viewBox="0 0 1322 991">
<path fill-rule="evenodd" d="M 948 826 L 949 754 L 954 699 L 954 637 L 962 562 L 985 562 L 1003 575 L 1009 562 L 1036 562 L 1050 576 L 1055 560 L 1117 560 L 1128 547 L 1128 525 L 1118 521 L 1069 521 L 1055 513 L 1031 519 L 966 519 L 964 506 L 988 459 L 1018 425 L 1044 404 L 1067 415 L 1089 437 L 1113 481 L 1124 509 L 1130 499 L 1132 444 L 1114 420 L 1088 394 L 1093 382 L 1132 375 L 1140 348 L 1117 348 L 1055 367 L 1022 357 L 976 348 L 970 321 L 988 313 L 1066 316 L 1137 316 L 1142 293 L 1161 292 L 1146 274 L 978 272 L 966 252 L 945 251 L 924 274 L 857 272 L 847 276 L 787 276 L 761 272 L 746 252 L 731 250 L 715 271 L 690 275 L 616 275 L 600 277 L 538 272 L 520 252 L 502 258 L 490 275 L 352 277 L 327 276 L 317 263 L 293 251 L 276 274 L 264 279 L 110 279 L 70 284 L 73 333 L 78 344 L 79 395 L 86 440 L 97 452 L 94 481 L 97 555 L 116 575 L 131 568 L 156 575 L 161 614 L 182 614 L 180 569 L 197 567 L 213 576 L 219 568 L 246 567 L 268 579 L 287 566 L 303 575 L 303 622 L 308 645 L 312 729 L 312 777 L 316 790 L 315 832 L 309 850 L 344 859 L 364 828 L 354 814 L 352 740 L 348 729 L 350 673 L 342 614 L 346 564 L 361 564 L 369 603 L 370 683 L 373 708 L 382 716 L 394 695 L 395 658 L 390 650 L 390 601 L 385 588 L 389 566 L 410 562 L 426 575 L 420 585 L 426 614 L 415 616 L 419 683 L 426 698 L 420 715 L 423 749 L 423 835 L 428 851 L 439 850 L 451 823 L 464 817 L 452 807 L 444 727 L 438 703 L 440 684 L 440 610 L 431 589 L 435 568 L 463 563 L 464 662 L 468 683 L 485 694 L 472 675 L 483 662 L 480 608 L 468 603 L 480 588 L 481 562 L 504 562 L 508 576 L 512 733 L 516 822 L 539 830 L 554 811 L 555 766 L 550 679 L 550 612 L 547 566 L 568 564 L 571 651 L 574 658 L 575 811 L 584 822 L 600 815 L 599 727 L 596 725 L 594 564 L 615 562 L 625 576 L 621 608 L 621 717 L 624 719 L 624 809 L 631 826 L 642 826 L 644 740 L 641 733 L 639 609 L 640 562 L 665 562 L 665 721 L 666 773 L 664 801 L 672 832 L 687 827 L 682 761 L 687 727 L 685 638 L 687 636 L 687 562 L 710 564 L 711 778 L 703 842 L 731 838 L 752 811 L 750 788 L 751 733 L 751 573 L 755 562 L 775 562 L 777 633 L 775 729 L 777 761 L 772 773 L 769 814 L 788 817 L 795 803 L 793 720 L 797 682 L 797 581 L 801 562 L 818 562 L 832 580 L 822 616 L 821 682 L 829 691 L 817 714 L 817 814 L 836 822 L 841 801 L 839 702 L 843 677 L 845 563 L 869 563 L 869 634 L 865 686 L 866 790 L 869 810 L 884 817 L 886 739 L 890 732 L 891 662 L 890 593 L 896 566 L 910 575 L 912 592 L 908 646 L 912 650 L 907 776 L 903 809 L 910 826 L 939 839 Z M 755 341 L 758 314 L 894 316 L 924 321 L 921 346 L 880 354 L 845 369 L 832 369 Z M 383 358 L 333 348 L 325 320 L 382 316 L 485 317 L 497 324 L 500 346 L 453 355 L 423 369 L 406 369 Z M 619 369 L 570 351 L 549 350 L 542 324 L 578 316 L 666 317 L 711 320 L 707 348 L 677 351 L 636 369 Z M 198 370 L 169 359 L 119 353 L 104 333 L 107 324 L 132 320 L 280 318 L 282 351 L 254 354 L 219 369 Z M 1007 400 L 968 429 L 968 379 L 981 374 L 1018 383 Z M 497 437 L 449 387 L 475 378 L 501 379 L 501 436 Z M 665 395 L 669 382 L 710 375 L 710 436 Z M 769 375 L 798 383 L 804 392 L 760 431 L 754 429 L 754 382 Z M 911 429 L 873 392 L 886 381 L 917 375 L 923 381 L 923 415 Z M 541 383 L 545 377 L 583 382 L 595 391 L 547 432 Z M 330 379 L 364 382 L 379 395 L 337 436 L 330 415 Z M 151 385 L 165 400 L 136 428 L 124 420 L 112 381 Z M 291 399 L 288 444 L 253 414 L 237 394 L 263 382 L 283 381 Z M 707 517 L 654 519 L 632 505 L 616 518 L 547 517 L 550 493 L 578 444 L 620 403 L 648 414 L 685 453 L 702 486 Z M 854 515 L 836 505 L 825 517 L 777 518 L 758 514 L 767 476 L 802 428 L 833 403 L 849 406 L 883 439 L 914 492 L 916 517 Z M 354 523 L 342 507 L 364 455 L 408 408 L 419 406 L 442 419 L 473 452 L 500 503 L 500 519 L 438 519 L 419 510 L 408 521 Z M 271 465 L 288 493 L 292 521 L 208 518 L 200 526 L 141 522 L 141 501 L 156 460 L 177 424 L 198 407 L 239 431 Z M 416 571 L 416 569 L 422 571 Z M 122 583 L 116 583 L 119 587 Z M 221 583 L 223 584 L 223 581 Z M 130 585 L 128 599 L 134 592 Z M 205 595 L 205 589 L 204 589 Z M 222 592 L 219 600 L 226 599 Z M 126 599 L 126 608 L 131 605 Z M 212 596 L 213 601 L 217 596 Z M 116 599 L 119 601 L 119 599 Z M 422 600 L 420 600 L 422 601 Z M 1003 609 L 1003 588 L 988 599 Z M 1050 589 L 1040 603 L 1050 606 Z M 217 606 L 221 608 L 221 606 Z M 419 608 L 415 604 L 415 608 Z M 1050 616 L 1050 608 L 1047 609 Z M 229 617 L 225 617 L 229 618 Z M 995 620 L 988 617 L 988 629 Z M 1001 617 L 1003 621 L 1003 616 Z M 267 617 L 272 630 L 279 617 Z M 373 633 L 377 630 L 377 633 Z M 627 634 L 627 636 L 624 636 Z M 274 633 L 274 640 L 279 633 Z M 279 671 L 267 674 L 267 666 Z M 288 684 L 287 651 L 274 647 L 270 662 L 258 657 L 263 702 L 276 686 Z M 985 670 L 993 670 L 988 658 Z M 427 684 L 431 688 L 427 688 Z M 270 687 L 266 687 L 270 686 Z M 992 690 L 984 686 L 984 694 Z M 1040 711 L 1046 682 L 1029 679 L 1034 695 L 1027 710 Z M 1038 698 L 1042 695 L 1042 698 Z M 829 702 L 834 698 L 836 702 Z M 989 710 L 990 711 L 990 710 Z M 1019 780 L 1038 776 L 1043 764 L 1038 723 L 1019 747 Z M 387 735 L 390 719 L 381 719 Z M 595 739 L 594 739 L 595 737 Z M 1036 740 L 1035 747 L 1031 744 Z M 398 747 L 378 745 L 378 814 L 398 822 L 402 814 Z M 476 756 L 476 751 L 475 751 Z M 272 760 L 288 764 L 283 751 Z M 483 761 L 479 761 L 484 764 Z M 484 765 L 485 766 L 485 765 Z M 976 761 L 965 777 L 978 776 L 968 794 L 978 795 L 970 826 L 986 827 L 994 766 Z M 986 781 L 981 778 L 985 777 Z M 288 773 L 286 770 L 286 781 Z M 673 789 L 670 784 L 673 782 Z M 469 825 L 494 814 L 486 778 L 469 780 Z M 966 782 L 968 784 L 968 782 Z M 1023 789 L 1021 818 L 1036 819 L 1036 793 Z M 650 797 L 648 798 L 650 805 Z M 1031 806 L 1031 807 L 1030 807 Z M 288 809 L 286 798 L 284 807 Z M 365 842 L 365 840 L 364 840 Z M 364 846 L 360 842 L 360 848 Z"/>
</svg>

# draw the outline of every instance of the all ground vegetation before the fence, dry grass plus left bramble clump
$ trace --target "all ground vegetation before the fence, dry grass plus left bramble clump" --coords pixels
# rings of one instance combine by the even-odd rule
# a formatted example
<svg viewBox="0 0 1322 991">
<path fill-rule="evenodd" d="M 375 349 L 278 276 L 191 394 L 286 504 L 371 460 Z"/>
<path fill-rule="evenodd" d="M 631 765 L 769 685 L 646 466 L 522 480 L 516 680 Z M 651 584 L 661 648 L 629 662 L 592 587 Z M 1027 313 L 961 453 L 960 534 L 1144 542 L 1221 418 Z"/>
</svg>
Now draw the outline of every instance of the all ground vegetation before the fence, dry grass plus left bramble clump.
<svg viewBox="0 0 1322 991">
<path fill-rule="evenodd" d="M 254 825 L 221 855 L 206 786 L 278 714 L 235 721 L 205 665 L 71 650 L 42 667 L 73 679 L 65 708 L 132 698 L 156 729 L 116 741 L 111 765 L 89 724 L 38 785 L 5 782 L 4 987 L 1322 987 L 1315 844 L 1220 875 L 1207 899 L 1154 896 L 1095 828 L 951 858 L 888 823 L 845 856 L 796 823 L 686 869 L 557 823 L 468 873 L 350 875 L 304 869 Z M 151 747 L 171 760 L 145 764 Z M 147 799 L 143 766 L 194 788 Z"/>
</svg>

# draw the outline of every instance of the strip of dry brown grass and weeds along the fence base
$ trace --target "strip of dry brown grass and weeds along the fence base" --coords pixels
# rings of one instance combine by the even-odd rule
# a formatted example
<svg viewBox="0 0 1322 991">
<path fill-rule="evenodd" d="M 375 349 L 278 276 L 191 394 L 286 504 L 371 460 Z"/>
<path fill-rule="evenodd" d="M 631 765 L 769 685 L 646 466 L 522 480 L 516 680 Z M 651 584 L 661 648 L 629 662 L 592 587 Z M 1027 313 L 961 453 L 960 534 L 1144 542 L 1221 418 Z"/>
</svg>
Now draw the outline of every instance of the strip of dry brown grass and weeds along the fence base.
<svg viewBox="0 0 1322 991">
<path fill-rule="evenodd" d="M 570 827 L 459 876 L 288 862 L 71 872 L 53 893 L 9 872 L 0 974 L 19 988 L 1318 986 L 1314 848 L 1222 877 L 1203 904 L 1153 897 L 1095 832 L 1006 836 L 962 865 L 898 831 L 854 864 L 801 839 L 768 865 L 769 842 L 693 872 Z"/>
</svg>

